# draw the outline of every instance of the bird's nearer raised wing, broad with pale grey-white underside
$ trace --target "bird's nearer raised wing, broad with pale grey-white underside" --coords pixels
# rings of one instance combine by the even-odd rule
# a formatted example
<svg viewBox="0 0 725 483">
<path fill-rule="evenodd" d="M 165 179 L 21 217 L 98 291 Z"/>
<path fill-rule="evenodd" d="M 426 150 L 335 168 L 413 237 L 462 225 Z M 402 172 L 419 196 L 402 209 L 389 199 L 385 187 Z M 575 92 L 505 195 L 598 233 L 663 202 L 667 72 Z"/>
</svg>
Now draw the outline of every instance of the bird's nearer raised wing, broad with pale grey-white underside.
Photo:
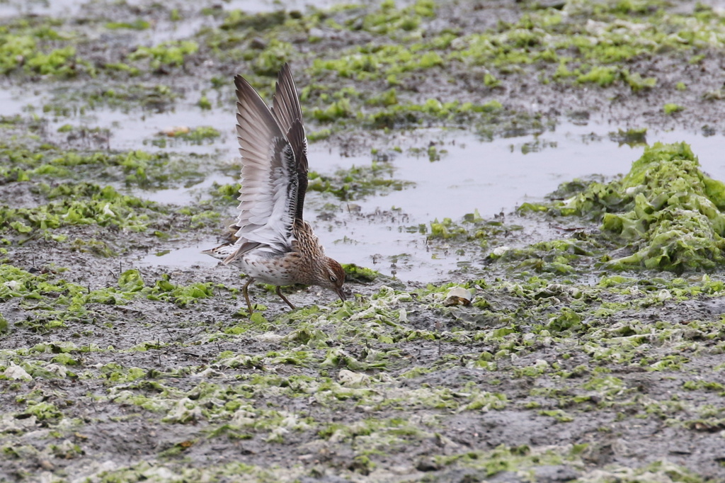
<svg viewBox="0 0 725 483">
<path fill-rule="evenodd" d="M 241 189 L 233 227 L 239 249 L 224 263 L 252 248 L 288 252 L 298 199 L 297 160 L 286 133 L 247 80 L 237 75 L 234 84 Z"/>
</svg>

